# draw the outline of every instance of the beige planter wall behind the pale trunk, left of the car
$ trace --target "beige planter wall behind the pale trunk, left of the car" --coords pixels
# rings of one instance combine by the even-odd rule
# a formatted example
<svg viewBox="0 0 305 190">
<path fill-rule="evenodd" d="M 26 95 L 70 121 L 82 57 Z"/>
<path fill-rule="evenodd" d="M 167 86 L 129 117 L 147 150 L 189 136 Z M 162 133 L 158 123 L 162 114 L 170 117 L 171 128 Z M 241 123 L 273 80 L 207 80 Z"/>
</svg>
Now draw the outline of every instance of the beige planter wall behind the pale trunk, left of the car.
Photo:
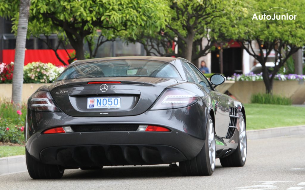
<svg viewBox="0 0 305 190">
<path fill-rule="evenodd" d="M 30 95 L 43 85 L 51 85 L 49 83 L 29 83 L 22 86 L 22 101 L 27 101 Z M 0 98 L 12 99 L 12 84 L 0 84 Z"/>
</svg>

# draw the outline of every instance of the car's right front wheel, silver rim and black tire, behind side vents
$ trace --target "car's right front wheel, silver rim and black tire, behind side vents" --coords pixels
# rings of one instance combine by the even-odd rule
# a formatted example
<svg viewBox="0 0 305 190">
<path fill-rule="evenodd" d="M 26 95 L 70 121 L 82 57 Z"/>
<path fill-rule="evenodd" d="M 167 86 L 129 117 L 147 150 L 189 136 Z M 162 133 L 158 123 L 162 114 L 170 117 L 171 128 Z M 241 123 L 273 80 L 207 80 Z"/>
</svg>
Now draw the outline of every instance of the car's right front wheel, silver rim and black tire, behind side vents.
<svg viewBox="0 0 305 190">
<path fill-rule="evenodd" d="M 243 150 L 243 151 L 241 151 Z M 243 153 L 242 153 L 243 152 Z M 242 167 L 247 157 L 247 133 L 244 116 L 239 119 L 239 142 L 237 149 L 229 156 L 220 158 L 222 167 Z"/>
</svg>

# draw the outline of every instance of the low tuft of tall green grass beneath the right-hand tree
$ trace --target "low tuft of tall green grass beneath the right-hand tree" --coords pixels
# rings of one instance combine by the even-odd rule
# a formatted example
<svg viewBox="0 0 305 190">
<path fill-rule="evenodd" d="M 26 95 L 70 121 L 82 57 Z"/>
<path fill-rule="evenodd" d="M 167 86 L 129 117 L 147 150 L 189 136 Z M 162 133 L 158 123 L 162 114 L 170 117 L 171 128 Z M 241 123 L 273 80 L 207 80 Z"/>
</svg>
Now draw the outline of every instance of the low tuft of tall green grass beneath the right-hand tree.
<svg viewBox="0 0 305 190">
<path fill-rule="evenodd" d="M 277 105 L 291 105 L 292 100 L 287 97 L 271 94 L 253 94 L 251 96 L 251 103 L 257 104 L 277 104 Z"/>
</svg>

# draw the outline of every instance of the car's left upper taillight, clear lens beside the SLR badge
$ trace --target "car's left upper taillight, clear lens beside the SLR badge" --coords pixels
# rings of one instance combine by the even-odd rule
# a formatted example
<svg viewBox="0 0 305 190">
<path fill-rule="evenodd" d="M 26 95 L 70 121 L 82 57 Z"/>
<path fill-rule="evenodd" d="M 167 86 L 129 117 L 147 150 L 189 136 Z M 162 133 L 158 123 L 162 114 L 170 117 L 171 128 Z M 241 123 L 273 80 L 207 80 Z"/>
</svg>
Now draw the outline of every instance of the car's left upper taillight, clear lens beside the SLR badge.
<svg viewBox="0 0 305 190">
<path fill-rule="evenodd" d="M 42 112 L 59 112 L 50 93 L 46 91 L 39 91 L 31 96 L 30 109 Z"/>
</svg>

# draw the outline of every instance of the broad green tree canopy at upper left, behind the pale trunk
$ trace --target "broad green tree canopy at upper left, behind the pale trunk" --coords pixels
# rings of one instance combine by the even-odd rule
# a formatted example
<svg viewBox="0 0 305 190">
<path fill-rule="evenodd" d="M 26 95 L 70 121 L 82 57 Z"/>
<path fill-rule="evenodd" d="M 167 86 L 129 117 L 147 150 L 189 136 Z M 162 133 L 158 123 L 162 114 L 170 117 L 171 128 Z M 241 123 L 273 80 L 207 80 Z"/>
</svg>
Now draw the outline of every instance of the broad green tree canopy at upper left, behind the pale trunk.
<svg viewBox="0 0 305 190">
<path fill-rule="evenodd" d="M 18 0 L 0 2 L 0 15 L 13 18 L 13 30 L 18 6 Z M 139 29 L 160 30 L 167 23 L 168 9 L 163 0 L 31 0 L 28 35 L 66 37 L 77 59 L 84 59 L 84 40 L 92 47 L 94 36 L 109 40 L 128 35 L 135 39 Z"/>
</svg>

